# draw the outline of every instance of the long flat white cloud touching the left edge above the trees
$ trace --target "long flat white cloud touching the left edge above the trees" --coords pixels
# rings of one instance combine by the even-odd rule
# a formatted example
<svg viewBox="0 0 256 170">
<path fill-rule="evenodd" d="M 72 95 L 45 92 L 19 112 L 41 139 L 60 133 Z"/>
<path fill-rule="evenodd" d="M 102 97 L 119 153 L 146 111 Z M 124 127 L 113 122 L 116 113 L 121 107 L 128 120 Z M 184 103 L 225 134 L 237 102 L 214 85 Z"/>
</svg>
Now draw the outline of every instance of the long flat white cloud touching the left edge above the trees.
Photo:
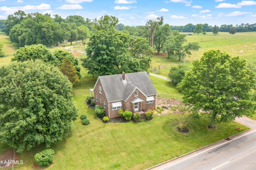
<svg viewBox="0 0 256 170">
<path fill-rule="evenodd" d="M 26 11 L 26 10 L 48 10 L 51 9 L 49 4 L 40 4 L 40 5 L 26 5 L 26 6 L 16 6 L 16 7 L 0 7 L 0 11 L 6 11 L 8 13 L 16 12 L 18 10 Z"/>
</svg>

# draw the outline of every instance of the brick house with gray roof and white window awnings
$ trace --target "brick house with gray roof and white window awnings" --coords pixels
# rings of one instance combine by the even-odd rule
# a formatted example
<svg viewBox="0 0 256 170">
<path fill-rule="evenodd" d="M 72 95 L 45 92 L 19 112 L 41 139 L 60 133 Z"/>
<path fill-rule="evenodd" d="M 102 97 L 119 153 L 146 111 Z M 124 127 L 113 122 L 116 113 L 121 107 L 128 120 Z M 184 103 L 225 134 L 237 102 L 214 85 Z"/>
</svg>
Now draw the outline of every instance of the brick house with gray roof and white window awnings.
<svg viewBox="0 0 256 170">
<path fill-rule="evenodd" d="M 146 71 L 99 76 L 94 89 L 95 105 L 105 109 L 108 118 L 120 117 L 118 110 L 140 113 L 156 108 L 156 90 Z"/>
</svg>

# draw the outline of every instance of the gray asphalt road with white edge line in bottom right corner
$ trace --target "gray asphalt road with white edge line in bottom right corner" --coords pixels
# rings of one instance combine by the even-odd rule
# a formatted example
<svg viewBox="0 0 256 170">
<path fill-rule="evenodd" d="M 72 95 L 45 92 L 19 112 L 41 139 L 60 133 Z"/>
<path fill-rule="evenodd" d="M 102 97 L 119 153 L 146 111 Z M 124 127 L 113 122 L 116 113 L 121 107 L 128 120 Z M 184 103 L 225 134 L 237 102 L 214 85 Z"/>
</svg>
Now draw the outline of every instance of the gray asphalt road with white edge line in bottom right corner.
<svg viewBox="0 0 256 170">
<path fill-rule="evenodd" d="M 255 170 L 256 128 L 221 140 L 154 170 Z"/>
</svg>

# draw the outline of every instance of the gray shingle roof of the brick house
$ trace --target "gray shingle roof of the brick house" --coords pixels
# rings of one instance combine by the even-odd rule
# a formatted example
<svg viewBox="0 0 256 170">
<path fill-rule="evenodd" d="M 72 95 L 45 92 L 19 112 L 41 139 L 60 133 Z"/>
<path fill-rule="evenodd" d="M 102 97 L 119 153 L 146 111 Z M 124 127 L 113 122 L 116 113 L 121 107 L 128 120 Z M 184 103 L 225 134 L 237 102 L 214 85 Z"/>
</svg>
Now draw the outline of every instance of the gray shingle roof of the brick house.
<svg viewBox="0 0 256 170">
<path fill-rule="evenodd" d="M 146 71 L 126 73 L 124 81 L 122 80 L 122 74 L 99 76 L 98 79 L 102 84 L 108 102 L 126 101 L 136 88 L 146 96 L 156 94 Z"/>
</svg>

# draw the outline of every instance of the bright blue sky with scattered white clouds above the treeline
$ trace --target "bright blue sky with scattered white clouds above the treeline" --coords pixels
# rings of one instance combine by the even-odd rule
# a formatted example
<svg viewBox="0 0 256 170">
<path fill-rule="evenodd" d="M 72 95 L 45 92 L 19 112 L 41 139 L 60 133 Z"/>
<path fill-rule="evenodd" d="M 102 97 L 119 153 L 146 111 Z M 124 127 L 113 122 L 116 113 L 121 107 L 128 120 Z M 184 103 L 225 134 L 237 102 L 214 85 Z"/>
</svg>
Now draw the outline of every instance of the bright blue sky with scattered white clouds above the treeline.
<svg viewBox="0 0 256 170">
<path fill-rule="evenodd" d="M 253 0 L 0 0 L 0 19 L 18 10 L 28 13 L 58 14 L 62 18 L 80 15 L 94 19 L 112 15 L 126 26 L 145 25 L 164 17 L 164 24 L 254 24 Z"/>
</svg>

